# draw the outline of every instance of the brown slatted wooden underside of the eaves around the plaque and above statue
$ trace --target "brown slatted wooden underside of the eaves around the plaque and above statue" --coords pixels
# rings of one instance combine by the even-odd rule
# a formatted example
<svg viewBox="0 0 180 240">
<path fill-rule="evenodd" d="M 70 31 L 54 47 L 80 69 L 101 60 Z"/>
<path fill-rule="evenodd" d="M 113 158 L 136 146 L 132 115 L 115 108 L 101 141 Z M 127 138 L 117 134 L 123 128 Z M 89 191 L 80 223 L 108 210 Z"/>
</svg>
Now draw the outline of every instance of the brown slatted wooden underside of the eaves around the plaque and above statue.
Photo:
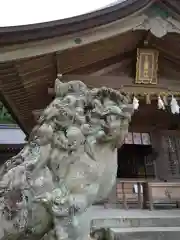
<svg viewBox="0 0 180 240">
<path fill-rule="evenodd" d="M 16 60 L 0 64 L 0 93 L 13 116 L 25 132 L 30 132 L 34 122 L 32 111 L 44 108 L 50 101 L 48 87 L 53 87 L 57 73 L 92 74 L 115 63 L 124 62 L 118 69 L 106 75 L 118 75 L 131 79 L 135 72 L 136 49 L 143 45 L 145 31 L 126 32 L 110 39 L 76 47 L 63 52 Z M 159 75 L 171 75 L 175 84 L 180 78 L 180 36 L 170 34 L 163 39 L 149 38 L 150 46 L 160 50 Z M 171 48 L 169 46 L 172 46 Z M 169 69 L 169 70 L 168 70 Z M 170 74 L 171 72 L 171 74 Z M 97 78 L 96 78 L 97 79 Z M 126 78 L 124 78 L 126 79 Z M 178 80 L 178 82 L 177 82 Z M 93 86 L 108 85 L 120 88 L 120 78 L 106 82 L 102 78 Z M 114 81 L 114 82 L 113 82 Z"/>
</svg>

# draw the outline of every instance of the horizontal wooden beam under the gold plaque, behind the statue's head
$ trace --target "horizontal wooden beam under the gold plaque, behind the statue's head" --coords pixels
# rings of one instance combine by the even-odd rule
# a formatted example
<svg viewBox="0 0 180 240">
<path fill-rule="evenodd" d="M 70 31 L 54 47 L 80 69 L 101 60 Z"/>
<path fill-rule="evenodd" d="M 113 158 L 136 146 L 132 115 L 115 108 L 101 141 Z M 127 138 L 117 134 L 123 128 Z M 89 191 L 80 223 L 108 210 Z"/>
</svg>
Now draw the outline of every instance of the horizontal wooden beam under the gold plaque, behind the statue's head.
<svg viewBox="0 0 180 240">
<path fill-rule="evenodd" d="M 143 84 L 134 84 L 134 79 L 132 77 L 122 75 L 122 76 L 92 76 L 92 75 L 64 75 L 62 77 L 63 82 L 68 82 L 72 80 L 80 80 L 87 84 L 90 88 L 94 87 L 110 87 L 114 89 L 119 89 L 120 91 L 124 91 L 127 93 L 134 93 L 136 95 L 140 94 L 143 95 L 145 93 L 151 95 L 159 95 L 162 94 L 173 94 L 179 95 L 180 93 L 180 86 L 179 89 L 177 86 L 170 85 L 171 81 L 167 81 L 167 79 L 160 78 L 159 84 L 157 85 L 143 85 Z M 162 84 L 161 84 L 162 83 Z M 50 95 L 54 95 L 54 89 L 49 88 L 48 93 Z"/>
</svg>

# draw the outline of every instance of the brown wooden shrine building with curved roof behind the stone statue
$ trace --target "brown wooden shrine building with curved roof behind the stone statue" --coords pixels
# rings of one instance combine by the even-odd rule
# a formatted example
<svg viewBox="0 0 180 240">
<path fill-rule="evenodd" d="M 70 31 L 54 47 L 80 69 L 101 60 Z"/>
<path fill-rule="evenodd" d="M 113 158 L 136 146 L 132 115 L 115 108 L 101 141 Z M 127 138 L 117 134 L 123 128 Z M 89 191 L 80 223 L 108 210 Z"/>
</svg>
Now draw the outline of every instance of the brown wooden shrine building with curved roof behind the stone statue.
<svg viewBox="0 0 180 240">
<path fill-rule="evenodd" d="M 109 202 L 142 207 L 180 200 L 180 4 L 126 0 L 96 12 L 0 27 L 0 97 L 29 135 L 54 81 L 126 92 L 135 113 L 117 151 Z"/>
</svg>

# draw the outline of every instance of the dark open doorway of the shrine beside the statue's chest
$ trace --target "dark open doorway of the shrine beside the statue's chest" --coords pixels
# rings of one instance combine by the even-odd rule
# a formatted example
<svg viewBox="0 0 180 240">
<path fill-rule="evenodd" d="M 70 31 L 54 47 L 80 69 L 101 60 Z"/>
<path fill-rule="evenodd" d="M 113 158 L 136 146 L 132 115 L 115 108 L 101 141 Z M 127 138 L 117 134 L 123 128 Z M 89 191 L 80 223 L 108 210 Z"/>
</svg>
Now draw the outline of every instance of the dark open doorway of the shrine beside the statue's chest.
<svg viewBox="0 0 180 240">
<path fill-rule="evenodd" d="M 124 144 L 118 150 L 117 178 L 152 178 L 155 175 L 152 147 Z"/>
</svg>

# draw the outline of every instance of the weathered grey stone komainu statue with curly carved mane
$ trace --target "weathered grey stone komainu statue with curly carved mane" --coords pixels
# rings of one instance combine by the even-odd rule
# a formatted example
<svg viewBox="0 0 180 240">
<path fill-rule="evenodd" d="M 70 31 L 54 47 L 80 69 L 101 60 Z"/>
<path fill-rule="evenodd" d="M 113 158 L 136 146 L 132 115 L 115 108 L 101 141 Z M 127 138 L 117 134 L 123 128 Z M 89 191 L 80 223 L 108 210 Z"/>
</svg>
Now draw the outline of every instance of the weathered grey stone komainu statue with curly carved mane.
<svg viewBox="0 0 180 240">
<path fill-rule="evenodd" d="M 55 93 L 27 145 L 1 168 L 0 240 L 82 240 L 78 219 L 115 183 L 128 97 L 59 79 Z"/>
</svg>

